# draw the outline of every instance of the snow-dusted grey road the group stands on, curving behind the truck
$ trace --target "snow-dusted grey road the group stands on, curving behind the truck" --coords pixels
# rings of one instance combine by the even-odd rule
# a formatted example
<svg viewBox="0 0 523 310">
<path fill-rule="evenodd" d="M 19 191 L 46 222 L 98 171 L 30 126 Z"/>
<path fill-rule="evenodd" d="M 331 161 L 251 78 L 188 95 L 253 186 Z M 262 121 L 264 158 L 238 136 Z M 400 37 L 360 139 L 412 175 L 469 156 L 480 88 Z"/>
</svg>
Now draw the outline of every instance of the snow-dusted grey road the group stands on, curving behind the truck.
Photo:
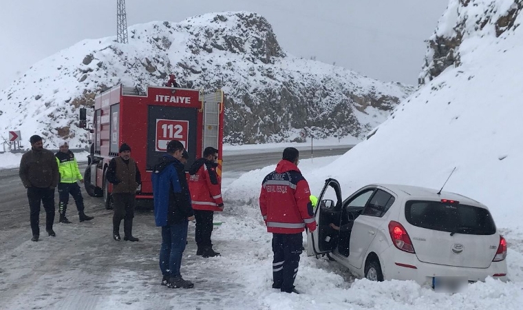
<svg viewBox="0 0 523 310">
<path fill-rule="evenodd" d="M 314 149 L 314 157 L 343 154 L 349 148 Z M 224 153 L 224 178 L 273 165 L 281 158 L 281 149 L 239 153 Z M 301 158 L 310 158 L 310 152 L 301 150 Z M 140 242 L 116 242 L 111 238 L 112 210 L 103 207 L 101 198 L 90 197 L 85 191 L 83 197 L 85 213 L 94 220 L 78 223 L 70 198 L 67 218 L 72 224 L 57 223 L 56 214 L 56 237 L 47 236 L 42 208 L 40 241 L 31 242 L 28 199 L 18 169 L 0 170 L 0 309 L 116 309 L 133 304 L 131 309 L 162 310 L 173 309 L 173 298 L 178 309 L 194 309 L 193 300 L 210 304 L 231 292 L 246 291 L 237 284 L 235 273 L 217 269 L 194 255 L 194 225 L 189 223 L 182 269 L 196 285 L 193 290 L 173 291 L 172 295 L 159 284 L 161 237 L 152 212 L 135 213 L 133 234 Z M 58 203 L 57 194 L 55 201 Z M 224 256 L 251 246 L 248 242 L 214 241 Z M 140 294 L 142 290 L 148 293 Z"/>
</svg>

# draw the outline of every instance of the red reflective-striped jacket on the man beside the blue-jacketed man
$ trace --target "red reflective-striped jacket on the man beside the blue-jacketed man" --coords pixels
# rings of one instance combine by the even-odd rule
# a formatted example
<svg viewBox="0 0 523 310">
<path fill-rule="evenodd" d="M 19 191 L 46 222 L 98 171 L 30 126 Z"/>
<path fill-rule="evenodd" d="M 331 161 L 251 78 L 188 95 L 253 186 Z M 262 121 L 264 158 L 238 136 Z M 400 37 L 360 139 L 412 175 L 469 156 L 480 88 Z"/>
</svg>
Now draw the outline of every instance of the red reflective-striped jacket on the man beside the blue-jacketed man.
<svg viewBox="0 0 523 310">
<path fill-rule="evenodd" d="M 217 163 L 200 158 L 189 168 L 189 192 L 193 209 L 222 211 L 222 184 L 216 172 Z M 220 207 L 218 207 L 220 206 Z"/>
</svg>

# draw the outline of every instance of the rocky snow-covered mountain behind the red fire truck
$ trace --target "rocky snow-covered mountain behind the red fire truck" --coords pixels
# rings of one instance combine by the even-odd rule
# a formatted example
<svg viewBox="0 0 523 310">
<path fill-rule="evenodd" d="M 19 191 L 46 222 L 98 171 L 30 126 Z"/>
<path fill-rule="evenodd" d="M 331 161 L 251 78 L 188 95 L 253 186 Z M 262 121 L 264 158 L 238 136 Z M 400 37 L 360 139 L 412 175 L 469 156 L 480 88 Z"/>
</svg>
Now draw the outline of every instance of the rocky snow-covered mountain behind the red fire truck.
<svg viewBox="0 0 523 310">
<path fill-rule="evenodd" d="M 362 137 L 412 92 L 290 56 L 268 21 L 250 12 L 134 25 L 129 44 L 114 39 L 84 40 L 36 63 L 0 93 L 0 132 L 21 130 L 25 140 L 41 133 L 47 147 L 58 138 L 82 147 L 78 107 L 118 83 L 162 85 L 171 72 L 182 87 L 226 92 L 229 143 L 288 141 L 303 129 L 317 138 Z"/>
</svg>

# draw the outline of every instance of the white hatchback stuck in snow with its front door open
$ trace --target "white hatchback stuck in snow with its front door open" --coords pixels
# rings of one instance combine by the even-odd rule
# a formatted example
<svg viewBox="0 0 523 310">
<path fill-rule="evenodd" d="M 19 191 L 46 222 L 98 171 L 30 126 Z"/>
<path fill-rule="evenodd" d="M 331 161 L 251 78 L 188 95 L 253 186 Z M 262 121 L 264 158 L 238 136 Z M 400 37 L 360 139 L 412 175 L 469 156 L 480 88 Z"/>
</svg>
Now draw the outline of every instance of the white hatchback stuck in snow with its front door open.
<svg viewBox="0 0 523 310">
<path fill-rule="evenodd" d="M 506 240 L 476 200 L 407 185 L 367 185 L 343 200 L 330 178 L 318 201 L 307 254 L 329 254 L 355 276 L 433 289 L 506 280 Z"/>
</svg>

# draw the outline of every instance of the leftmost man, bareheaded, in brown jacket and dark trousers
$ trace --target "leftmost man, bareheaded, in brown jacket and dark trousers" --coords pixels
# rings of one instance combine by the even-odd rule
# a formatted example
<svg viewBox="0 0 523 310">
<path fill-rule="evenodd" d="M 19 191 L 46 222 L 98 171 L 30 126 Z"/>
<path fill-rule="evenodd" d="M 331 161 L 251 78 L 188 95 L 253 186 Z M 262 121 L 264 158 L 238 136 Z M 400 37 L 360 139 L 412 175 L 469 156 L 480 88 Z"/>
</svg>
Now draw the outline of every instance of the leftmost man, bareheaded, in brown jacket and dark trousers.
<svg viewBox="0 0 523 310">
<path fill-rule="evenodd" d="M 41 136 L 30 138 L 31 150 L 23 154 L 19 175 L 23 186 L 28 189 L 32 241 L 40 238 L 40 203 L 45 209 L 45 230 L 49 236 L 56 236 L 54 222 L 54 188 L 58 185 L 58 165 L 53 152 L 43 148 Z"/>
</svg>

